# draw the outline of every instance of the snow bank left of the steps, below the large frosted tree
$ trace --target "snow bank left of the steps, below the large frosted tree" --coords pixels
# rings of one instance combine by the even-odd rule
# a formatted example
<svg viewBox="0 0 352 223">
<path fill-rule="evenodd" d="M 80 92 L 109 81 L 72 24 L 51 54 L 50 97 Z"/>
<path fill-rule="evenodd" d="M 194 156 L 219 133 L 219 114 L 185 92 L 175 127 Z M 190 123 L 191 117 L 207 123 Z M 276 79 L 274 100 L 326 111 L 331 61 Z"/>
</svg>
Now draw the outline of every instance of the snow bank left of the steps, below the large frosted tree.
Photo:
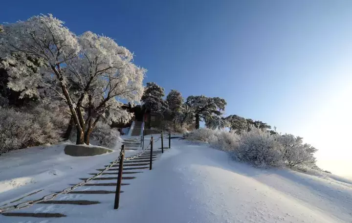
<svg viewBox="0 0 352 223">
<path fill-rule="evenodd" d="M 40 197 L 64 189 L 119 156 L 117 151 L 100 156 L 67 156 L 64 153 L 67 143 L 11 151 L 0 156 L 0 206 L 37 191 L 41 191 L 36 195 Z M 117 143 L 111 149 L 120 147 L 121 143 Z M 11 205 L 19 202 L 22 200 Z"/>
</svg>

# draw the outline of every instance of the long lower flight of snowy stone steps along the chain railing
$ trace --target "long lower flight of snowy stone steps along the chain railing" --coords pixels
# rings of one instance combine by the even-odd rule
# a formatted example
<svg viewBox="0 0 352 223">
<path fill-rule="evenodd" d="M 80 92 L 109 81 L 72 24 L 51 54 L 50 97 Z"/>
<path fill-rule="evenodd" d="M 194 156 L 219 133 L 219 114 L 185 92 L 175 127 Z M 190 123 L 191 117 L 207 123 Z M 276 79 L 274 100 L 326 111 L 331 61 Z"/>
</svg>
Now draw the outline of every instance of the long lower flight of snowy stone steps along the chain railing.
<svg viewBox="0 0 352 223">
<path fill-rule="evenodd" d="M 139 132 L 140 133 L 140 132 Z M 139 149 L 140 148 L 140 140 L 137 138 L 130 138 L 130 139 L 125 139 L 123 144 L 125 147 L 129 147 L 130 149 Z M 153 161 L 160 156 L 161 151 L 155 150 L 153 151 Z M 133 155 L 132 155 L 133 156 Z M 135 174 L 143 173 L 143 170 L 149 169 L 149 160 L 150 160 L 150 150 L 146 150 L 141 156 L 138 156 L 132 160 L 126 160 L 124 161 L 124 168 L 123 168 L 123 183 L 121 183 L 121 186 L 127 186 L 131 184 L 132 179 L 136 178 Z M 105 165 L 108 166 L 108 165 Z M 82 185 L 78 187 L 76 190 L 71 191 L 67 194 L 63 194 L 57 197 L 56 200 L 48 200 L 48 201 L 42 201 L 40 203 L 37 203 L 31 207 L 25 208 L 25 209 L 20 209 L 16 210 L 13 212 L 9 213 L 2 213 L 2 218 L 9 218 L 9 217 L 23 217 L 24 219 L 29 218 L 29 217 L 34 217 L 34 218 L 61 218 L 61 217 L 67 217 L 70 214 L 73 216 L 76 214 L 75 212 L 72 212 L 74 209 L 66 209 L 65 213 L 47 213 L 43 212 L 43 210 L 51 210 L 50 207 L 44 207 L 44 205 L 59 205 L 56 206 L 55 209 L 63 209 L 63 205 L 98 205 L 101 203 L 100 201 L 91 201 L 91 198 L 89 195 L 101 195 L 103 196 L 104 194 L 111 194 L 110 196 L 113 196 L 112 194 L 115 194 L 115 188 L 116 188 L 116 179 L 118 176 L 118 170 L 119 170 L 119 165 L 115 164 L 113 165 L 112 168 L 104 172 L 101 176 L 98 178 L 94 178 L 92 181 L 86 183 L 85 185 Z M 97 169 L 96 171 L 102 171 L 104 169 Z M 89 173 L 89 175 L 95 175 L 97 173 Z M 80 180 L 85 180 L 87 178 L 79 178 Z M 113 180 L 111 182 L 111 180 Z M 115 181 L 116 180 L 116 181 Z M 70 184 L 70 185 L 75 185 L 75 184 Z M 97 188 L 97 189 L 95 189 Z M 106 188 L 106 189 L 105 189 Z M 123 193 L 123 191 L 121 191 Z M 72 194 L 72 195 L 71 195 Z M 73 197 L 72 197 L 73 196 Z M 95 197 L 96 199 L 97 197 Z M 113 200 L 111 200 L 113 202 Z M 123 201 L 122 201 L 123 202 Z M 51 210 L 55 211 L 55 210 Z M 68 213 L 66 213 L 68 212 Z M 72 212 L 72 213 L 70 213 Z M 5 217 L 6 216 L 6 217 Z M 1 222 L 1 221 L 0 221 Z M 30 221 L 25 221 L 25 222 L 30 222 Z"/>
</svg>

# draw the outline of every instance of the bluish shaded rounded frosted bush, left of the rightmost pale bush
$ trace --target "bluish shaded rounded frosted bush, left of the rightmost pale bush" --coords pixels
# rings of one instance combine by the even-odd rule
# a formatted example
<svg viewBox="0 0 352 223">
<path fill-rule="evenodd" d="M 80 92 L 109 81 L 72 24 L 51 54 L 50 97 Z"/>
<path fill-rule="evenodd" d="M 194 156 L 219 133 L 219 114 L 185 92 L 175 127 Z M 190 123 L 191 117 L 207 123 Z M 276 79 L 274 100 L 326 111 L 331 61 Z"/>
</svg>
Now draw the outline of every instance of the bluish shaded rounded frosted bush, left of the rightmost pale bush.
<svg viewBox="0 0 352 223">
<path fill-rule="evenodd" d="M 281 151 L 282 145 L 275 135 L 251 127 L 249 132 L 242 132 L 239 145 L 231 154 L 256 166 L 279 166 L 282 163 Z"/>
</svg>

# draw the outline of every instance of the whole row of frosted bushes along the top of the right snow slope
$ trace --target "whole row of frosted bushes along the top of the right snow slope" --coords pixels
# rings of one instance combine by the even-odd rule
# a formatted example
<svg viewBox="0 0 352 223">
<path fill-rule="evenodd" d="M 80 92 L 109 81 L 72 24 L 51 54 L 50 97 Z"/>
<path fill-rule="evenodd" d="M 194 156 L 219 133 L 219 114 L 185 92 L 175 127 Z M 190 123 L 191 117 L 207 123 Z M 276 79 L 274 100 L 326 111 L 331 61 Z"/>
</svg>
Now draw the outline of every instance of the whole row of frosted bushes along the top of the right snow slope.
<svg viewBox="0 0 352 223">
<path fill-rule="evenodd" d="M 249 132 L 244 130 L 241 134 L 198 129 L 189 133 L 187 139 L 209 143 L 214 148 L 229 152 L 237 160 L 255 166 L 286 164 L 301 170 L 317 169 L 314 157 L 317 149 L 292 134 L 270 134 L 251 126 Z"/>
</svg>

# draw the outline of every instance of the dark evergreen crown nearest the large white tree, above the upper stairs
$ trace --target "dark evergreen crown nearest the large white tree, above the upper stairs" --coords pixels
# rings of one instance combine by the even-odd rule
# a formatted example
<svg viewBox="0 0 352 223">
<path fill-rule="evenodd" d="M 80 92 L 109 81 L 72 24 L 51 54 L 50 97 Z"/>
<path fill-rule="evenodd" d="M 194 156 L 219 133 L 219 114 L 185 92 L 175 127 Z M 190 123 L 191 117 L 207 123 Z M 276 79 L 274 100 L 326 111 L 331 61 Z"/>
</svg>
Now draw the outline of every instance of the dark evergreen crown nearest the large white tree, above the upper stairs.
<svg viewBox="0 0 352 223">
<path fill-rule="evenodd" d="M 148 112 L 165 112 L 167 109 L 167 104 L 163 99 L 164 96 L 164 88 L 158 86 L 154 82 L 148 82 L 142 96 L 143 107 Z"/>
</svg>

